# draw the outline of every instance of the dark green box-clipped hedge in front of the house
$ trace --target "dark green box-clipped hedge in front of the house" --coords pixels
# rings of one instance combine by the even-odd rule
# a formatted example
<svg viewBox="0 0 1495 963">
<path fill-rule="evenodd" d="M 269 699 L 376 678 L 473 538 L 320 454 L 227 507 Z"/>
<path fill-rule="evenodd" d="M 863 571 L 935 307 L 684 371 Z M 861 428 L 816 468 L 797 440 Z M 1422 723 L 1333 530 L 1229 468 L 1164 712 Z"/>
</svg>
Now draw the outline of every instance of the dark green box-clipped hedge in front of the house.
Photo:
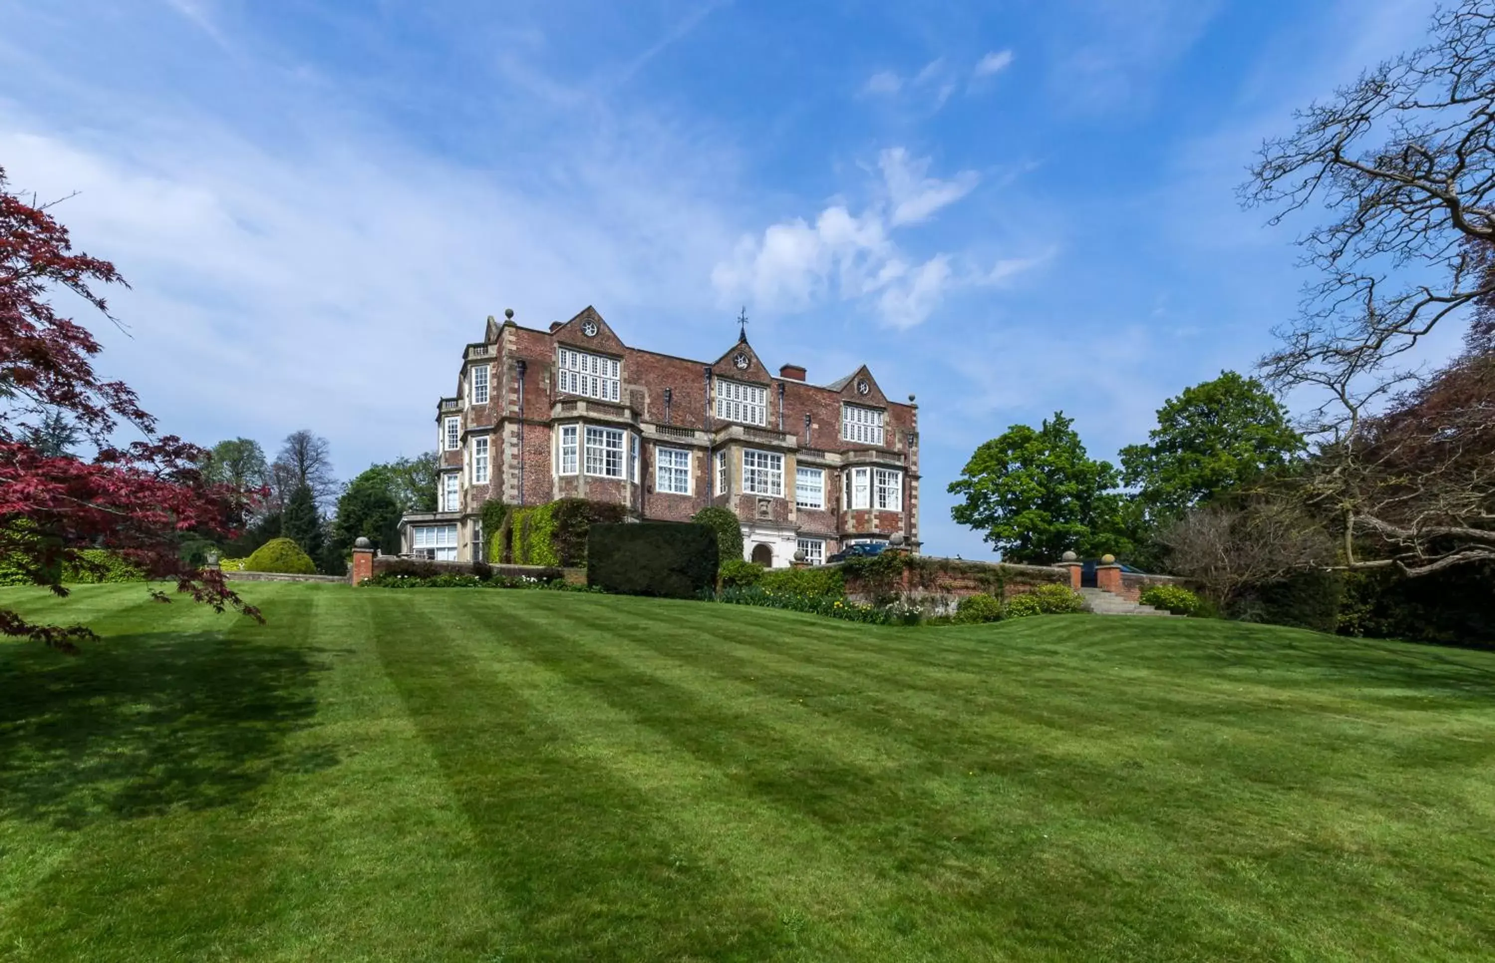
<svg viewBox="0 0 1495 963">
<path fill-rule="evenodd" d="M 716 588 L 716 532 L 706 525 L 592 525 L 586 583 L 622 595 L 695 598 Z"/>
</svg>

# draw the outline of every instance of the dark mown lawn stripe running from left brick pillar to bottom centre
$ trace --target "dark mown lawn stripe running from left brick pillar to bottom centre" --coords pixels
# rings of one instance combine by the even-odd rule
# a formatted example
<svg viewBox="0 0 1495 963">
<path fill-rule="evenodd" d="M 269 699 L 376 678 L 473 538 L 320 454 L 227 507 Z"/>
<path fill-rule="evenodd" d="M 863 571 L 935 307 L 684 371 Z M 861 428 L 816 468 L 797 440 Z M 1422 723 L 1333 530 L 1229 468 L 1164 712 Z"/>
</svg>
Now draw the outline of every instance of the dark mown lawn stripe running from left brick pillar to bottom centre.
<svg viewBox="0 0 1495 963">
<path fill-rule="evenodd" d="M 773 956 L 779 921 L 703 863 L 680 863 L 655 802 L 580 760 L 561 719 L 463 643 L 471 601 L 390 612 L 377 646 L 514 909 L 507 959 Z"/>
</svg>

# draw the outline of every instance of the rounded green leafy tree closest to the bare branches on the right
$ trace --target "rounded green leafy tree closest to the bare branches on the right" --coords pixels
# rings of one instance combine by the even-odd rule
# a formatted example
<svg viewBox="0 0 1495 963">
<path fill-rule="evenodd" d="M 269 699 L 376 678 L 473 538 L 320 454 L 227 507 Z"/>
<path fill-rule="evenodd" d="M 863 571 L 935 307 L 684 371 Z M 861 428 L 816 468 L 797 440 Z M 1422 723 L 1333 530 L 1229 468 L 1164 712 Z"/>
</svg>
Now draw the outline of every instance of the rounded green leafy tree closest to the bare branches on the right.
<svg viewBox="0 0 1495 963">
<path fill-rule="evenodd" d="M 1163 402 L 1148 443 L 1121 449 L 1123 480 L 1151 519 L 1171 519 L 1286 465 L 1302 447 L 1265 384 L 1221 371 Z"/>
</svg>

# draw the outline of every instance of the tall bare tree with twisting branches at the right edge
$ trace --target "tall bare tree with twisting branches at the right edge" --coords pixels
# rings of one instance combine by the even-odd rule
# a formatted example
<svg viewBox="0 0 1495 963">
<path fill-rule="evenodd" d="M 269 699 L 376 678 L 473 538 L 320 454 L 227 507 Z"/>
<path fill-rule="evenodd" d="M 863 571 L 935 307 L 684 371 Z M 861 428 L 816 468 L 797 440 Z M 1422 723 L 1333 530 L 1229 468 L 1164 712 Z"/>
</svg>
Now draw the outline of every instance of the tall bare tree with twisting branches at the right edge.
<svg viewBox="0 0 1495 963">
<path fill-rule="evenodd" d="M 1437 423 L 1395 414 L 1435 392 L 1408 351 L 1495 302 L 1495 3 L 1440 7 L 1429 36 L 1301 111 L 1242 187 L 1274 223 L 1314 202 L 1334 214 L 1299 239 L 1322 281 L 1262 368 L 1281 389 L 1317 389 L 1307 493 L 1337 519 L 1343 562 L 1408 574 L 1489 558 L 1491 538 L 1471 507 L 1488 479 L 1467 447 L 1479 405 L 1438 408 Z M 1390 558 L 1359 558 L 1366 537 Z"/>
</svg>

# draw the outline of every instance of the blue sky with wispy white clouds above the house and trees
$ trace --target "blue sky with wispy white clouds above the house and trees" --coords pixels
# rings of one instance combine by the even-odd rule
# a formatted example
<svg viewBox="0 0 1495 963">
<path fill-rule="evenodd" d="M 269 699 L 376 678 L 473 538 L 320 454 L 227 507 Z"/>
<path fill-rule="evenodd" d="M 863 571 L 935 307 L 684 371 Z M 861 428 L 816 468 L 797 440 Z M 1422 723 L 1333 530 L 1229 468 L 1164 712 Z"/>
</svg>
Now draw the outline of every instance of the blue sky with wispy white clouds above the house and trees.
<svg viewBox="0 0 1495 963">
<path fill-rule="evenodd" d="M 1248 368 L 1304 275 L 1235 187 L 1431 3 L 0 0 L 0 166 L 132 281 L 100 369 L 199 443 L 434 447 L 460 345 L 631 344 L 915 393 L 945 484 L 1063 408 L 1093 455 Z M 91 323 L 91 321 L 90 321 Z"/>
</svg>

